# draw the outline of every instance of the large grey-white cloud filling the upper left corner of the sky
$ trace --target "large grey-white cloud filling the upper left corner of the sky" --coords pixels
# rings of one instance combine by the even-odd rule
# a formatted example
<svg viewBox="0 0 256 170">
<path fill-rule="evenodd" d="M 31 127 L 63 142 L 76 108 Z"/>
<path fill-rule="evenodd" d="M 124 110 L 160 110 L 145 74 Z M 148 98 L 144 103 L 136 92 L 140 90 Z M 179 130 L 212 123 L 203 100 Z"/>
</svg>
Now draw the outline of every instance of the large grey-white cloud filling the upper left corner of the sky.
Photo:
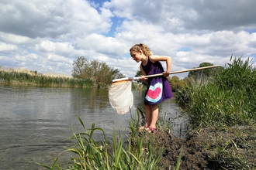
<svg viewBox="0 0 256 170">
<path fill-rule="evenodd" d="M 101 15 L 87 1 L 10 0 L 0 4 L 5 9 L 0 12 L 0 29 L 19 36 L 69 39 L 107 32 L 111 26 L 111 12 L 104 9 Z"/>
</svg>

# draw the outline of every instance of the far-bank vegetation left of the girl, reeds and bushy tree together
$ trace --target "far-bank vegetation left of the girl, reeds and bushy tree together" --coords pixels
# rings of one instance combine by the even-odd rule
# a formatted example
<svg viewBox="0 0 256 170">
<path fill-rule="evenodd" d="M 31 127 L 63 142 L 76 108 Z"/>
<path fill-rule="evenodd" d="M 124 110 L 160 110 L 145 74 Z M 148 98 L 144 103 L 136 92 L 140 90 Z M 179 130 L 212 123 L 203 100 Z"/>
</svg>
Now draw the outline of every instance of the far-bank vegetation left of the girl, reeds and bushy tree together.
<svg viewBox="0 0 256 170">
<path fill-rule="evenodd" d="M 88 61 L 80 56 L 73 63 L 72 77 L 43 75 L 37 71 L 4 69 L 0 66 L 0 83 L 36 85 L 44 87 L 101 87 L 107 88 L 112 79 L 124 77 L 117 69 L 97 60 Z"/>
</svg>

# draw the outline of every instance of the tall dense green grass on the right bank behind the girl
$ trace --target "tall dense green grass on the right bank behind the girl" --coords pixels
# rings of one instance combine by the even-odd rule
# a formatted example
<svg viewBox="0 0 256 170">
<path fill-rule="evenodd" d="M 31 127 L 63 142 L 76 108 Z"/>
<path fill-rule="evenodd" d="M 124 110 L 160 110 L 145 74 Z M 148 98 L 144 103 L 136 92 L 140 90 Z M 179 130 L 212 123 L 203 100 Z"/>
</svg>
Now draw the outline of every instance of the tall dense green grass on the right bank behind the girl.
<svg viewBox="0 0 256 170">
<path fill-rule="evenodd" d="M 192 124 L 233 126 L 256 118 L 256 70 L 251 60 L 230 57 L 230 63 L 208 83 L 194 83 L 176 94 L 187 102 Z"/>
</svg>

